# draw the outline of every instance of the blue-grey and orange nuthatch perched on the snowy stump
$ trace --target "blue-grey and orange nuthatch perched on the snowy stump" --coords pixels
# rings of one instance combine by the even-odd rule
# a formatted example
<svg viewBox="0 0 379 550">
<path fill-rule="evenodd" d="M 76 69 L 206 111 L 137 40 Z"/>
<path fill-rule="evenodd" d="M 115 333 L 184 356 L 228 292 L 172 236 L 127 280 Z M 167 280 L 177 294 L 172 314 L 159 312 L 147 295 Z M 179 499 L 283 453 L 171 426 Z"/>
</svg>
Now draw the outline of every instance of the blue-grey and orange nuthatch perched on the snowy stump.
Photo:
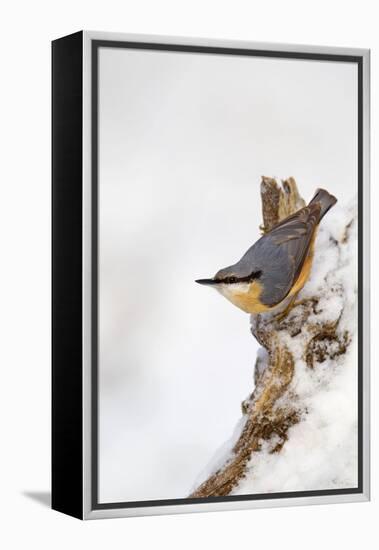
<svg viewBox="0 0 379 550">
<path fill-rule="evenodd" d="M 272 227 L 237 263 L 195 282 L 215 288 L 246 313 L 280 311 L 278 319 L 285 317 L 309 278 L 318 226 L 336 202 L 316 189 L 307 206 Z"/>
</svg>

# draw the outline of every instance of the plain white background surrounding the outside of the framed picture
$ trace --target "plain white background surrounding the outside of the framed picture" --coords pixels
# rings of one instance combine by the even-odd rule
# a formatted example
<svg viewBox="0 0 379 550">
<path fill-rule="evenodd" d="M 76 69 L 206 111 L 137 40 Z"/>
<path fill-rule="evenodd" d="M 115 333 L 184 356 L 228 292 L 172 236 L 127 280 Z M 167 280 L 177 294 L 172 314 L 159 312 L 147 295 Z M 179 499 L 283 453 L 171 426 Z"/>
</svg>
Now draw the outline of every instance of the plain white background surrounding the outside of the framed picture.
<svg viewBox="0 0 379 550">
<path fill-rule="evenodd" d="M 49 490 L 50 45 L 81 28 L 371 47 L 377 150 L 374 2 L 191 0 L 14 2 L 2 9 L 1 530 L 4 548 L 375 547 L 379 506 L 377 392 L 370 503 L 81 523 L 27 496 Z M 374 155 L 373 155 L 374 156 Z M 373 159 L 372 205 L 378 204 Z M 377 215 L 373 234 L 378 233 Z M 378 279 L 376 257 L 373 258 Z M 373 289 L 373 334 L 378 332 Z M 377 351 L 372 387 L 378 385 Z M 46 499 L 46 497 L 45 497 Z"/>
</svg>

